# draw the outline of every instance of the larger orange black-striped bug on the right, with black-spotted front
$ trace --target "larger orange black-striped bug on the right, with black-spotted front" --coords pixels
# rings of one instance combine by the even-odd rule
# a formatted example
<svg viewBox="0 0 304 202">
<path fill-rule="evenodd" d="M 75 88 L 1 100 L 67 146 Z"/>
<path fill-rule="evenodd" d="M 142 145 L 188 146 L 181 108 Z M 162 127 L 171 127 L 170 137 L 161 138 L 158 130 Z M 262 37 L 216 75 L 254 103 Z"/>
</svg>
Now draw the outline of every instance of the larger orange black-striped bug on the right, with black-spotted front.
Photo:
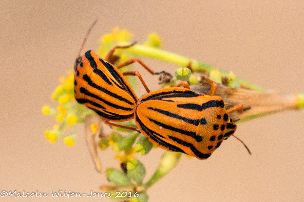
<svg viewBox="0 0 304 202">
<path fill-rule="evenodd" d="M 137 102 L 134 119 L 140 132 L 152 143 L 168 151 L 179 151 L 198 159 L 207 159 L 237 126 L 229 113 L 242 110 L 242 105 L 226 110 L 223 100 L 190 90 L 187 81 L 177 87 L 147 93 Z M 181 86 L 184 85 L 185 88 Z"/>
</svg>

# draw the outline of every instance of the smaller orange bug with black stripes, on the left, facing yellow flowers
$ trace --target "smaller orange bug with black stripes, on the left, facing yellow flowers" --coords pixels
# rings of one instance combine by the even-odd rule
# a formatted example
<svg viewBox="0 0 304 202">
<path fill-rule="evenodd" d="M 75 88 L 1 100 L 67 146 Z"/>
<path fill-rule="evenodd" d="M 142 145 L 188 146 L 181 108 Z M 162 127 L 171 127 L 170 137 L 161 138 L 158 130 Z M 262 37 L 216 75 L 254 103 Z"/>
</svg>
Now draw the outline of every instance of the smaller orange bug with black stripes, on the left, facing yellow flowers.
<svg viewBox="0 0 304 202">
<path fill-rule="evenodd" d="M 92 27 L 95 23 L 96 21 Z M 88 30 L 83 45 L 92 27 Z M 74 92 L 76 101 L 95 111 L 105 121 L 119 122 L 133 118 L 138 98 L 124 75 L 138 76 L 144 88 L 147 92 L 150 92 L 138 71 L 121 73 L 118 70 L 119 68 L 138 62 L 152 75 L 164 73 L 164 71 L 159 73 L 152 71 L 137 58 L 130 59 L 116 67 L 108 62 L 115 49 L 129 48 L 134 44 L 135 43 L 125 46 L 116 45 L 109 51 L 105 59 L 100 58 L 91 50 L 86 51 L 83 56 L 78 56 L 76 59 L 74 66 Z M 78 55 L 80 55 L 81 49 Z"/>
</svg>

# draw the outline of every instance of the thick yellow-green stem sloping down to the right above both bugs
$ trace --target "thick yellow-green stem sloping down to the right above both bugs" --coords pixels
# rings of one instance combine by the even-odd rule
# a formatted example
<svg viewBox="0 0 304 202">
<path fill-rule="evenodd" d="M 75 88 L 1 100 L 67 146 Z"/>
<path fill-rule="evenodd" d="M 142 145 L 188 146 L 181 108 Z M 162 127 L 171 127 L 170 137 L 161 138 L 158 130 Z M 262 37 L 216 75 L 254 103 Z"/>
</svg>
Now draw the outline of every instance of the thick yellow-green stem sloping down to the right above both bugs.
<svg viewBox="0 0 304 202">
<path fill-rule="evenodd" d="M 146 56 L 149 58 L 154 58 L 162 61 L 166 61 L 181 67 L 187 67 L 189 63 L 191 62 L 191 68 L 192 71 L 194 72 L 207 72 L 210 73 L 212 69 L 216 69 L 216 67 L 212 67 L 211 65 L 208 65 L 206 63 L 197 61 L 197 60 L 192 60 L 190 58 L 177 55 L 175 53 L 171 53 L 168 51 L 164 51 L 158 48 L 153 48 L 153 47 L 147 47 L 144 45 L 136 44 L 132 46 L 131 48 L 126 48 L 119 50 L 122 52 L 128 52 L 133 55 L 138 55 L 138 56 Z M 229 73 L 226 71 L 219 70 L 222 76 L 226 76 Z M 239 81 L 240 85 L 242 88 L 254 90 L 254 91 L 259 91 L 259 92 L 264 92 L 265 90 L 261 87 L 258 87 L 257 85 L 251 84 L 250 82 L 241 79 L 241 78 L 236 78 L 237 81 Z"/>
</svg>

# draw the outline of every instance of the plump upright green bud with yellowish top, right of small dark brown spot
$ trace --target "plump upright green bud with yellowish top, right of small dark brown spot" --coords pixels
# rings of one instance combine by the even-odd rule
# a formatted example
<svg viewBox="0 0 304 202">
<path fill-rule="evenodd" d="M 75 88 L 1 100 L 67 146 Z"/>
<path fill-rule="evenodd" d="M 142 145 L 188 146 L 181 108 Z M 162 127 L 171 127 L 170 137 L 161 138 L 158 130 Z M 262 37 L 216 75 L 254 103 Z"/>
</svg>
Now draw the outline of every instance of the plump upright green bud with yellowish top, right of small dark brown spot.
<svg viewBox="0 0 304 202">
<path fill-rule="evenodd" d="M 131 180 L 142 183 L 143 178 L 146 175 L 146 169 L 140 161 L 131 159 L 127 163 L 127 173 Z"/>
</svg>

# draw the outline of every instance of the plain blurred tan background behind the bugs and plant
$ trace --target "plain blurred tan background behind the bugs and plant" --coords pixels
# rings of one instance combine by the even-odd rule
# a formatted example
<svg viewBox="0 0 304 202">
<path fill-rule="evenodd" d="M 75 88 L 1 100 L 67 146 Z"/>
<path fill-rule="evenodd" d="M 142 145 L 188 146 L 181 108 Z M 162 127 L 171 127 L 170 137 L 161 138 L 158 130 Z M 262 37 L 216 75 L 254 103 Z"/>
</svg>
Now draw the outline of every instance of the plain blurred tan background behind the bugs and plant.
<svg viewBox="0 0 304 202">
<path fill-rule="evenodd" d="M 81 42 L 96 17 L 84 51 L 96 50 L 113 26 L 143 42 L 151 31 L 163 48 L 204 61 L 282 94 L 304 92 L 304 6 L 301 1 L 1 1 L 0 6 L 0 191 L 90 193 L 107 183 L 95 171 L 77 128 L 73 148 L 45 140 L 53 117 L 44 104 L 60 75 L 74 66 Z M 83 54 L 83 53 L 82 53 Z M 147 58 L 155 70 L 174 65 Z M 140 66 L 151 88 L 158 88 Z M 157 80 L 157 77 L 155 78 Z M 142 89 L 142 93 L 144 90 Z M 208 160 L 182 157 L 149 191 L 149 201 L 304 201 L 304 111 L 289 111 L 239 124 Z M 150 177 L 163 150 L 140 158 Z M 103 166 L 118 167 L 111 151 Z M 0 201 L 36 198 L 0 198 Z M 50 196 L 43 201 L 53 201 Z M 58 199 L 57 199 L 58 200 Z M 109 201 L 73 198 L 61 201 Z"/>
</svg>

